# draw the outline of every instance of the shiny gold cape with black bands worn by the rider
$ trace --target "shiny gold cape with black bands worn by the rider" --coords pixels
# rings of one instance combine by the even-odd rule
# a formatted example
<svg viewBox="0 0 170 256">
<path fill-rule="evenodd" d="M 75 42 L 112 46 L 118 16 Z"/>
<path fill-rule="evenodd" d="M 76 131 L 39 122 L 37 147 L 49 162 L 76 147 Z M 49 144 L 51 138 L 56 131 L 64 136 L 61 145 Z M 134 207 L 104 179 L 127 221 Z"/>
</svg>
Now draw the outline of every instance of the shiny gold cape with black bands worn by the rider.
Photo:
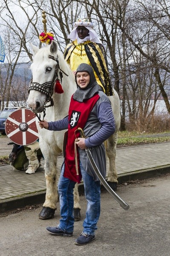
<svg viewBox="0 0 170 256">
<path fill-rule="evenodd" d="M 113 95 L 109 79 L 106 54 L 102 44 L 86 41 L 78 44 L 77 39 L 67 44 L 64 51 L 64 58 L 70 65 L 72 71 L 77 70 L 81 63 L 89 64 L 95 73 L 95 78 L 107 96 Z"/>
</svg>

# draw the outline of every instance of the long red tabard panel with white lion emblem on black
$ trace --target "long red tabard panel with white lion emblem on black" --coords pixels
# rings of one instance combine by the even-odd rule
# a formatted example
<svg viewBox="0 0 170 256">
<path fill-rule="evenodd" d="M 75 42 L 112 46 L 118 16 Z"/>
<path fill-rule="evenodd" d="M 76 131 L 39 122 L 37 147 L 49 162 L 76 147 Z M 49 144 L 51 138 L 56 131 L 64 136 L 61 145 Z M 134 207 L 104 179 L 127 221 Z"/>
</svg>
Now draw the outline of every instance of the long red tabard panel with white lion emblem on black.
<svg viewBox="0 0 170 256">
<path fill-rule="evenodd" d="M 72 181 L 81 182 L 80 172 L 80 159 L 77 147 L 77 159 L 78 159 L 78 174 L 75 168 L 75 130 L 79 127 L 84 129 L 90 112 L 92 111 L 95 103 L 98 101 L 100 96 L 95 94 L 92 98 L 87 99 L 85 102 L 77 102 L 71 98 L 69 106 L 69 126 L 68 126 L 68 140 L 66 144 L 66 156 L 65 156 L 65 169 L 64 177 L 69 178 Z M 80 137 L 78 134 L 77 137 Z"/>
</svg>

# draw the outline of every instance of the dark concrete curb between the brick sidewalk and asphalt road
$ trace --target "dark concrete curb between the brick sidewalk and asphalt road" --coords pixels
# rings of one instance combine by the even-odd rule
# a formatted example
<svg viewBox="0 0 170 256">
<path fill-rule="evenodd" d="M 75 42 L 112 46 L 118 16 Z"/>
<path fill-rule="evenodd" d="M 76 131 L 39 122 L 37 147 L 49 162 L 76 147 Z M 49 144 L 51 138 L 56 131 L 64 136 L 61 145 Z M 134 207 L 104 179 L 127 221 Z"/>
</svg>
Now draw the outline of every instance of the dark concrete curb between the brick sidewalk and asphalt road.
<svg viewBox="0 0 170 256">
<path fill-rule="evenodd" d="M 132 180 L 144 180 L 148 178 L 158 177 L 170 173 L 170 165 L 155 167 L 152 169 L 144 169 L 136 172 L 128 172 L 126 174 L 118 175 L 118 184 L 130 182 Z M 101 191 L 104 187 L 101 186 Z M 81 183 L 78 186 L 80 195 L 84 194 L 84 185 Z M 33 204 L 43 204 L 45 201 L 46 190 L 26 194 L 20 197 L 4 199 L 0 201 L 0 213 L 8 212 L 14 209 L 23 208 Z"/>
</svg>

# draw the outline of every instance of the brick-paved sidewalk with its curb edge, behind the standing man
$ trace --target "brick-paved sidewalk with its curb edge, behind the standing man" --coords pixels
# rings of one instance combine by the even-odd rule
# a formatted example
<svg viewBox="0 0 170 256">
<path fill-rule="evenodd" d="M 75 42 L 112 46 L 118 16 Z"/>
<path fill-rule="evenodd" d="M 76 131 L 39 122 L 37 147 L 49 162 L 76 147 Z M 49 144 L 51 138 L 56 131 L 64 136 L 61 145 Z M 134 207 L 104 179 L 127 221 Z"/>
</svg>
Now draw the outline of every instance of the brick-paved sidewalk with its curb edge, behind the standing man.
<svg viewBox="0 0 170 256">
<path fill-rule="evenodd" d="M 170 142 L 118 148 L 116 169 L 119 184 L 170 172 L 169 152 Z M 58 177 L 62 162 L 63 157 L 58 157 Z M 107 160 L 107 172 L 108 170 Z M 45 193 L 43 166 L 31 175 L 23 171 L 14 172 L 10 165 L 0 166 L 0 212 L 42 203 Z"/>
</svg>

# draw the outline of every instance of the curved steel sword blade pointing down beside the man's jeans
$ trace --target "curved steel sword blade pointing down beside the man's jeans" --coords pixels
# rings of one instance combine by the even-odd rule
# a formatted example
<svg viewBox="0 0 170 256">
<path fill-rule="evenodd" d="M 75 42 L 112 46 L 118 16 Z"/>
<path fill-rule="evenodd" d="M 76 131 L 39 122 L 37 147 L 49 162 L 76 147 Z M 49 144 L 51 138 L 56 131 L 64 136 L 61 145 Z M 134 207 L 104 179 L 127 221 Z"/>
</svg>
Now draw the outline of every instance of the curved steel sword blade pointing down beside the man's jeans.
<svg viewBox="0 0 170 256">
<path fill-rule="evenodd" d="M 107 191 L 113 196 L 113 198 L 115 198 L 115 200 L 120 204 L 120 206 L 124 209 L 124 210 L 128 210 L 130 207 L 129 205 L 124 202 L 116 193 L 115 191 L 112 190 L 112 188 L 108 185 L 107 181 L 104 179 L 104 177 L 101 175 L 101 172 L 99 171 L 93 157 L 92 157 L 92 153 L 90 152 L 90 148 L 85 149 L 86 150 L 86 154 L 87 157 L 89 159 L 89 162 L 92 165 L 93 170 L 95 171 L 95 174 L 98 176 L 99 180 L 101 181 L 101 183 L 103 184 L 103 186 L 105 187 L 105 189 L 107 189 Z"/>
</svg>

